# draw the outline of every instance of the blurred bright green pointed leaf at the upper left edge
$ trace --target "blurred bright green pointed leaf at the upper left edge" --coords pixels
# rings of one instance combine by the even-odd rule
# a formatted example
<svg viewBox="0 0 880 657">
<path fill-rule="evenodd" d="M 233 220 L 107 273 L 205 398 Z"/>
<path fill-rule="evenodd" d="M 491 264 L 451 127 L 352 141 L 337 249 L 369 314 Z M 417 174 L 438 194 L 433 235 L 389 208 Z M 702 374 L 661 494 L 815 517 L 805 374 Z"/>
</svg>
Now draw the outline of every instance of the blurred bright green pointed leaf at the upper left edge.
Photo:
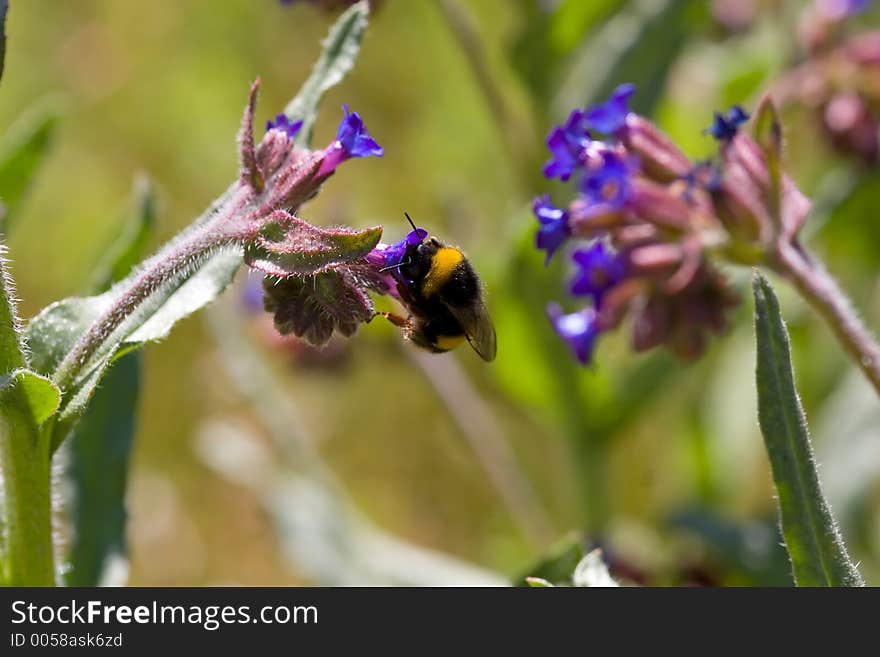
<svg viewBox="0 0 880 657">
<path fill-rule="evenodd" d="M 0 230 L 8 234 L 37 168 L 43 162 L 58 122 L 58 107 L 43 103 L 10 129 L 0 147 Z"/>
</svg>

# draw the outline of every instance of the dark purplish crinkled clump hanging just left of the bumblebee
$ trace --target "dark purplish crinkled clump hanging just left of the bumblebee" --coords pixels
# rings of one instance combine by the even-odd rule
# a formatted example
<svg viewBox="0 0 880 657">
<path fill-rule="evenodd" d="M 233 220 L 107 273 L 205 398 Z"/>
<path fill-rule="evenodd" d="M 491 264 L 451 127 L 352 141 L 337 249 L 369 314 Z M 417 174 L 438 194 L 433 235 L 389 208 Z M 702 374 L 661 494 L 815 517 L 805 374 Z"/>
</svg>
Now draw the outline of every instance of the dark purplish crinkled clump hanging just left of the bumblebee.
<svg viewBox="0 0 880 657">
<path fill-rule="evenodd" d="M 312 345 L 325 344 L 334 331 L 348 337 L 373 318 L 365 281 L 355 269 L 315 276 L 263 279 L 264 305 L 282 335 L 293 334 Z"/>
</svg>

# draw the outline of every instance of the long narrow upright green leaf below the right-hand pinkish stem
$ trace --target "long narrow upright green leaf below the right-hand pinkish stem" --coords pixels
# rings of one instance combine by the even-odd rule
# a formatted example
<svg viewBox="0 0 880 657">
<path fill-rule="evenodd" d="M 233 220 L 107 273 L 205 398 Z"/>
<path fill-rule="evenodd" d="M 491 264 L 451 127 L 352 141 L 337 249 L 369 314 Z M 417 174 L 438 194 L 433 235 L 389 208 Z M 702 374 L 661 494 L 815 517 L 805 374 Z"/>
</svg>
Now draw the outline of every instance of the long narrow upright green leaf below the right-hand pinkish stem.
<svg viewBox="0 0 880 657">
<path fill-rule="evenodd" d="M 758 343 L 758 422 L 770 456 L 782 534 L 798 586 L 861 586 L 822 494 L 794 385 L 788 331 L 773 288 L 755 274 L 755 332 Z"/>
</svg>

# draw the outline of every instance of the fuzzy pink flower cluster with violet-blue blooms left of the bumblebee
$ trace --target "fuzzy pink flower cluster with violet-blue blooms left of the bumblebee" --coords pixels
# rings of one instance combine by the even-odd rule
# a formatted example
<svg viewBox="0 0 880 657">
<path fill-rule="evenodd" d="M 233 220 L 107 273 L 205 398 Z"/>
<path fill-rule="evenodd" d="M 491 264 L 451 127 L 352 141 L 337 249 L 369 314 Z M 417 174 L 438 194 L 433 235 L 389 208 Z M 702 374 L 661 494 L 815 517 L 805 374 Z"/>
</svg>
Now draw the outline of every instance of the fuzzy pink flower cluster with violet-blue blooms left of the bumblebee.
<svg viewBox="0 0 880 657">
<path fill-rule="evenodd" d="M 384 151 L 347 105 L 335 138 L 323 149 L 297 145 L 303 121 L 283 113 L 266 123 L 255 145 L 256 91 L 254 85 L 240 136 L 236 197 L 241 198 L 241 219 L 233 227 L 235 237 L 244 242 L 245 262 L 265 275 L 263 307 L 272 313 L 278 332 L 323 345 L 334 333 L 351 335 L 374 315 L 368 291 L 383 292 L 387 285 L 366 256 L 381 228 L 319 228 L 296 213 L 340 164 Z"/>
</svg>

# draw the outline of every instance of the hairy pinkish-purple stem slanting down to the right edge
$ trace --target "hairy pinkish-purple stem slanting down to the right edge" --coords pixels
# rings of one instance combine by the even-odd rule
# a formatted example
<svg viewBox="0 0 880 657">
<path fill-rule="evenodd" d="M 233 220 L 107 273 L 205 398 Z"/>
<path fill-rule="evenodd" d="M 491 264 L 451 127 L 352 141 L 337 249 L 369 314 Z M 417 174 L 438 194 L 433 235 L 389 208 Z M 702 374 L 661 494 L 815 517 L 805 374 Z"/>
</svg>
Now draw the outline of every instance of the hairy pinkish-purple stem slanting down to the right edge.
<svg viewBox="0 0 880 657">
<path fill-rule="evenodd" d="M 880 345 L 837 281 L 803 248 L 784 245 L 778 255 L 776 270 L 825 318 L 843 348 L 880 394 Z"/>
</svg>

